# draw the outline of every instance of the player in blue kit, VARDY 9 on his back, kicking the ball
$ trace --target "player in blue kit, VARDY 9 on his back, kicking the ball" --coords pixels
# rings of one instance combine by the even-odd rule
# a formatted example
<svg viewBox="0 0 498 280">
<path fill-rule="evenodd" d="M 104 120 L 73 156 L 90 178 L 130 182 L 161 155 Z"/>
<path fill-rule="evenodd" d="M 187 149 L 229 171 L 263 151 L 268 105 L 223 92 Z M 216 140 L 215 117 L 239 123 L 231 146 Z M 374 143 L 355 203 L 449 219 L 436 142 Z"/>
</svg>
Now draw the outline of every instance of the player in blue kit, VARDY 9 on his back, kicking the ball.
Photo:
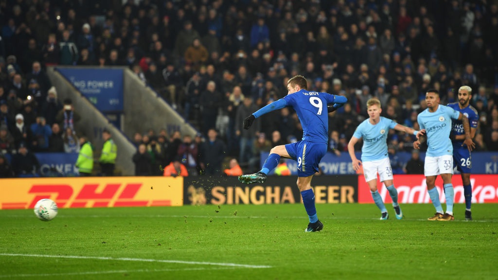
<svg viewBox="0 0 498 280">
<path fill-rule="evenodd" d="M 273 147 L 261 170 L 254 174 L 241 175 L 239 181 L 245 184 L 262 183 L 266 180 L 266 174 L 278 165 L 280 157 L 296 160 L 297 187 L 301 192 L 304 208 L 309 217 L 308 227 L 304 231 L 320 231 L 323 229 L 323 224 L 318 220 L 316 214 L 315 194 L 311 188 L 311 178 L 318 171 L 318 164 L 327 153 L 328 112 L 333 112 L 343 106 L 348 99 L 344 96 L 324 92 L 307 91 L 306 78 L 299 75 L 289 79 L 287 90 L 287 96 L 266 105 L 247 117 L 244 120 L 244 129 L 249 129 L 256 118 L 268 112 L 292 107 L 303 128 L 302 140 Z"/>
</svg>

